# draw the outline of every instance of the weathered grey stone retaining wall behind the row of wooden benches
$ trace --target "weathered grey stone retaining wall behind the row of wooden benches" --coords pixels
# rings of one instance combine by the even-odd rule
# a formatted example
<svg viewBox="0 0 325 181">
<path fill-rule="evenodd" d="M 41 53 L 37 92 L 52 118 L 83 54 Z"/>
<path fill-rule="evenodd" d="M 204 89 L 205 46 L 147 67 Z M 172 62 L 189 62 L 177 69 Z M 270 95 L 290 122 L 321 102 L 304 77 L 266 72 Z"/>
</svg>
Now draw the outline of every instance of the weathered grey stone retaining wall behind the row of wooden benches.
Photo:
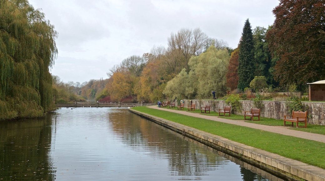
<svg viewBox="0 0 325 181">
<path fill-rule="evenodd" d="M 184 107 L 187 108 L 190 103 L 195 103 L 195 109 L 200 109 L 206 104 L 211 105 L 211 111 L 218 112 L 223 109 L 227 104 L 225 100 L 184 100 Z M 261 101 L 263 108 L 261 108 L 261 116 L 283 119 L 283 115 L 291 115 L 285 106 L 285 101 Z M 254 107 L 253 101 L 240 101 L 242 109 L 240 112 L 235 112 L 236 115 L 244 115 L 244 111 L 250 111 Z M 302 102 L 308 106 L 307 123 L 313 125 L 325 126 L 325 102 Z"/>
</svg>

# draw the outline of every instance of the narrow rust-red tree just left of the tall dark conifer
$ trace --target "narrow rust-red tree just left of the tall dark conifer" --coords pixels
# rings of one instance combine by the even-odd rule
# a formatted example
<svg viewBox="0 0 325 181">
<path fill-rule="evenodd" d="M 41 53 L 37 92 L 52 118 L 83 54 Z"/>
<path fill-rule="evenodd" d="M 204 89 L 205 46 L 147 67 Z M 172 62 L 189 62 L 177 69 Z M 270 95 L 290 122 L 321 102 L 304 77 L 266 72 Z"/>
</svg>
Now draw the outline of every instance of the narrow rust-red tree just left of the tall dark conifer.
<svg viewBox="0 0 325 181">
<path fill-rule="evenodd" d="M 239 48 L 231 53 L 228 71 L 226 74 L 227 78 L 227 87 L 230 91 L 237 89 L 238 86 L 238 57 L 239 57 Z"/>
</svg>

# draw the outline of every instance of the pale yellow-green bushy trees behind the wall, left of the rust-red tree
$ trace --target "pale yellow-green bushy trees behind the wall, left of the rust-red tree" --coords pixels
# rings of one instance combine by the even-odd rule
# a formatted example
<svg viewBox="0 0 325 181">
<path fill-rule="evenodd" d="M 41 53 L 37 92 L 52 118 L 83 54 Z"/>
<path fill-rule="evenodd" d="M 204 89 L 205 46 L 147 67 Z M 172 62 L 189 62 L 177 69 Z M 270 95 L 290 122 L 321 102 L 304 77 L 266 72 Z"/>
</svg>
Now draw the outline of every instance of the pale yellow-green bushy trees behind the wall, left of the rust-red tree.
<svg viewBox="0 0 325 181">
<path fill-rule="evenodd" d="M 193 56 L 188 62 L 190 71 L 183 69 L 167 82 L 163 91 L 167 97 L 211 98 L 212 91 L 218 96 L 226 94 L 226 72 L 229 55 L 226 49 L 217 50 L 211 46 L 205 53 Z"/>
</svg>

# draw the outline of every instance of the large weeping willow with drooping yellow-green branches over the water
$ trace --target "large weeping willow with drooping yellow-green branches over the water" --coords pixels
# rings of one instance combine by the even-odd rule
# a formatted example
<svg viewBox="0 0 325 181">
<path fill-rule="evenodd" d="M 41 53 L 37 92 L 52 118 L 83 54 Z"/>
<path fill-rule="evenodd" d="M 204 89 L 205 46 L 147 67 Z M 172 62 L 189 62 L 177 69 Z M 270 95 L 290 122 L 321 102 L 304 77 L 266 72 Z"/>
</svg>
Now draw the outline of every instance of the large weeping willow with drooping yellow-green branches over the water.
<svg viewBox="0 0 325 181">
<path fill-rule="evenodd" d="M 58 33 L 28 0 L 0 0 L 0 120 L 54 109 L 52 76 Z"/>
</svg>

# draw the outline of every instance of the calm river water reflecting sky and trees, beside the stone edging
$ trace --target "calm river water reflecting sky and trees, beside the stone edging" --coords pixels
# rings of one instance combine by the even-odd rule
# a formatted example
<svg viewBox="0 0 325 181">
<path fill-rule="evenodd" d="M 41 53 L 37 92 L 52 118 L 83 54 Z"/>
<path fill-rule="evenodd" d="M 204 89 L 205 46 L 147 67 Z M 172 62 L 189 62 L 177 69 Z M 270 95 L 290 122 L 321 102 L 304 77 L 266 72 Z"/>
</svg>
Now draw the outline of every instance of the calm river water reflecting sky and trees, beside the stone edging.
<svg viewBox="0 0 325 181">
<path fill-rule="evenodd" d="M 0 122 L 2 180 L 282 179 L 126 108 L 79 107 Z"/>
</svg>

